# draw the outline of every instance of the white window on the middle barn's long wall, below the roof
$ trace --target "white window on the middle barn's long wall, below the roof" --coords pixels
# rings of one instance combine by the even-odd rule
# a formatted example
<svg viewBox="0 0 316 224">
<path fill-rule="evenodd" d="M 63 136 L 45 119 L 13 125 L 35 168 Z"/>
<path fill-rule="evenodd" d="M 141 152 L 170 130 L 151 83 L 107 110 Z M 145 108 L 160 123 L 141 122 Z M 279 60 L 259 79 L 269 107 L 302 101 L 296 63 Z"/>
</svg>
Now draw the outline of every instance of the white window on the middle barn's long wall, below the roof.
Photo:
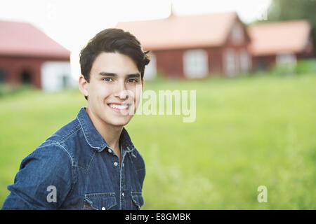
<svg viewBox="0 0 316 224">
<path fill-rule="evenodd" d="M 209 73 L 206 50 L 187 50 L 183 55 L 183 71 L 187 78 L 204 78 Z"/>
</svg>

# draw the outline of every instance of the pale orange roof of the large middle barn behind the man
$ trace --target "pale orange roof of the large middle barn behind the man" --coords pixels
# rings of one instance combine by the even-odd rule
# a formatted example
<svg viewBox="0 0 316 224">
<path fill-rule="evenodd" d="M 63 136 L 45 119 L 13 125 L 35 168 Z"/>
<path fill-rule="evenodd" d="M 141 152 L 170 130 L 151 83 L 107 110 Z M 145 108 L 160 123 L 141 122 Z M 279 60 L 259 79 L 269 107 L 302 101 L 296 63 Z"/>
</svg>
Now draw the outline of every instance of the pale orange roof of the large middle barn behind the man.
<svg viewBox="0 0 316 224">
<path fill-rule="evenodd" d="M 216 47 L 227 40 L 237 13 L 171 15 L 160 20 L 119 22 L 117 28 L 130 31 L 147 50 Z"/>
</svg>

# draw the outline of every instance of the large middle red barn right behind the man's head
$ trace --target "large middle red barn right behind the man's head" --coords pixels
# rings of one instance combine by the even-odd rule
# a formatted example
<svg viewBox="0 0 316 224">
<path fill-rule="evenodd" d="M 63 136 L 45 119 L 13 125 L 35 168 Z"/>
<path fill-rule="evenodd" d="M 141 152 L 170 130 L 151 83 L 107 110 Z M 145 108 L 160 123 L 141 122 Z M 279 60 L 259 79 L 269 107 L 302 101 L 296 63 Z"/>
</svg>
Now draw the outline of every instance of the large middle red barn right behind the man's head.
<svg viewBox="0 0 316 224">
<path fill-rule="evenodd" d="M 172 78 L 235 76 L 251 69 L 250 38 L 237 13 L 176 16 L 119 22 L 151 50 L 145 78 L 157 71 Z"/>
</svg>

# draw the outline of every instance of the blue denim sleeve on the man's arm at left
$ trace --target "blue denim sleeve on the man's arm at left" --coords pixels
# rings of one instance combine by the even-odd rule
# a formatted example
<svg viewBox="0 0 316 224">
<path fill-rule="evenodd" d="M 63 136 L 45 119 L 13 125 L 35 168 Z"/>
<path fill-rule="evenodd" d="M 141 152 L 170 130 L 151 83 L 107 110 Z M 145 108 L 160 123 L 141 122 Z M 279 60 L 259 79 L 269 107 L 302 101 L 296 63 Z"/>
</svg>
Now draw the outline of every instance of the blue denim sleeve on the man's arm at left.
<svg viewBox="0 0 316 224">
<path fill-rule="evenodd" d="M 22 160 L 2 209 L 58 209 L 72 188 L 72 159 L 58 144 L 41 146 Z"/>
</svg>

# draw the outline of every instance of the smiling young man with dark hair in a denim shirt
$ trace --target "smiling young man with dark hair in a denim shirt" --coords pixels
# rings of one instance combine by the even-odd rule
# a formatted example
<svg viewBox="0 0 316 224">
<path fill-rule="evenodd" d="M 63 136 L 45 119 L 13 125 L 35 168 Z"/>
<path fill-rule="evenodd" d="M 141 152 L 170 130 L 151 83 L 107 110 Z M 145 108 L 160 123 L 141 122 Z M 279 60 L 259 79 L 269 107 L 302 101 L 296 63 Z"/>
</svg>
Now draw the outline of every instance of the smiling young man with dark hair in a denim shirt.
<svg viewBox="0 0 316 224">
<path fill-rule="evenodd" d="M 124 125 L 143 90 L 146 53 L 121 29 L 88 42 L 79 78 L 87 107 L 22 160 L 2 209 L 140 209 L 145 163 Z"/>
</svg>

